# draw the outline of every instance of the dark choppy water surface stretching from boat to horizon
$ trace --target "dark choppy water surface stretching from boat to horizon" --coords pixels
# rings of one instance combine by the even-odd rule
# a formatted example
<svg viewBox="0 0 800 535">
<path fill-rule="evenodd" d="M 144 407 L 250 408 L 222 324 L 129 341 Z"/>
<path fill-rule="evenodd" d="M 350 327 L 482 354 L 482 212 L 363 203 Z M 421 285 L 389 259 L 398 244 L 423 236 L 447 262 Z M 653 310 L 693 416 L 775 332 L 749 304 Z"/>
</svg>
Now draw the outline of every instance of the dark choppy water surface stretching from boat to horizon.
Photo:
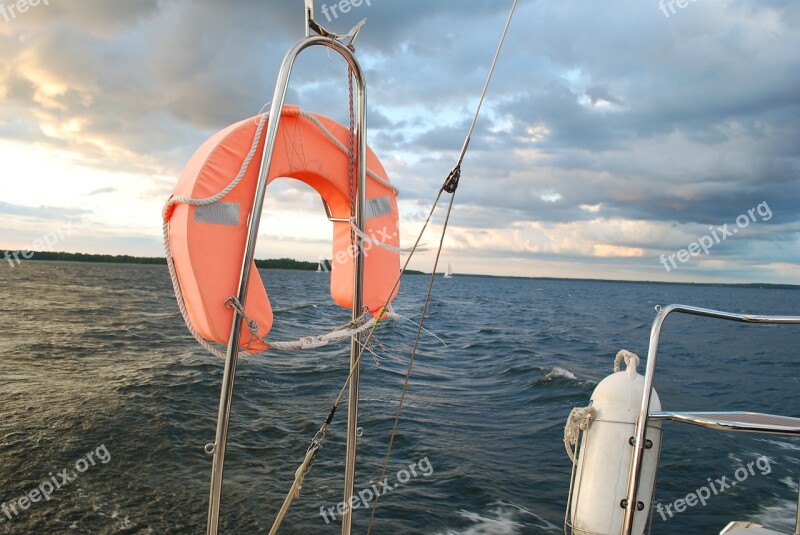
<svg viewBox="0 0 800 535">
<path fill-rule="evenodd" d="M 0 534 L 202 532 L 210 469 L 203 446 L 214 437 L 222 362 L 186 332 L 166 270 L 28 262 L 0 270 L 0 277 L 0 501 L 23 496 L 100 444 L 112 455 L 52 500 L 0 522 Z M 275 271 L 269 279 L 273 339 L 317 334 L 349 319 L 316 274 Z M 399 314 L 418 321 L 426 282 L 404 279 Z M 617 348 L 646 354 L 652 304 L 668 299 L 791 313 L 795 296 L 470 277 L 437 285 L 425 327 L 441 340 L 421 340 L 390 465 L 394 474 L 427 458 L 433 473 L 382 499 L 374 532 L 560 532 L 570 473 L 564 421 L 609 373 Z M 591 312 L 605 305 L 625 312 Z M 794 331 L 741 331 L 713 322 L 696 329 L 684 319 L 670 321 L 656 382 L 665 407 L 780 412 L 800 406 Z M 380 473 L 416 330 L 409 321 L 382 324 L 374 348 L 380 367 L 371 358 L 362 363 L 358 488 Z M 341 344 L 239 362 L 222 532 L 269 530 L 344 384 L 348 361 Z M 319 512 L 341 500 L 346 412 L 343 404 L 286 533 L 339 531 Z M 685 496 L 706 477 L 729 473 L 734 458 L 766 455 L 773 473 L 748 480 L 747 493 L 718 499 L 702 515 L 671 519 L 669 528 L 718 532 L 745 505 L 753 514 L 790 518 L 800 443 L 715 439 L 708 431 L 665 426 L 660 499 Z M 365 522 L 359 512 L 354 531 Z"/>
</svg>

